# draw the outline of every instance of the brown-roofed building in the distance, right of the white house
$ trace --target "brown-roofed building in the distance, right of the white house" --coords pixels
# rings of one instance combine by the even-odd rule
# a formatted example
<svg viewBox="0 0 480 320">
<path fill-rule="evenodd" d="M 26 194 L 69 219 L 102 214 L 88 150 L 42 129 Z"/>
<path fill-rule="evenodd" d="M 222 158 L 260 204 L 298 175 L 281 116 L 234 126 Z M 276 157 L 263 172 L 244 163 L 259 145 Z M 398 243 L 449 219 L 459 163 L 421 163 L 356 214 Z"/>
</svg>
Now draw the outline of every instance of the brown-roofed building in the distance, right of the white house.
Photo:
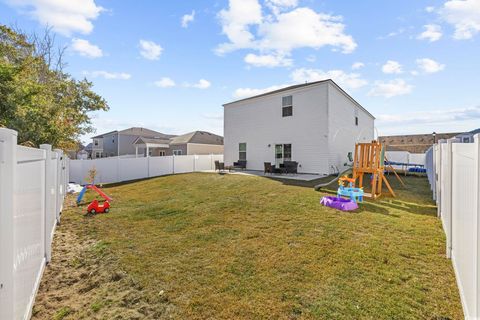
<svg viewBox="0 0 480 320">
<path fill-rule="evenodd" d="M 388 151 L 408 151 L 424 153 L 440 139 L 450 139 L 458 133 L 427 133 L 398 136 L 380 136 L 378 140 L 387 146 Z"/>
</svg>

